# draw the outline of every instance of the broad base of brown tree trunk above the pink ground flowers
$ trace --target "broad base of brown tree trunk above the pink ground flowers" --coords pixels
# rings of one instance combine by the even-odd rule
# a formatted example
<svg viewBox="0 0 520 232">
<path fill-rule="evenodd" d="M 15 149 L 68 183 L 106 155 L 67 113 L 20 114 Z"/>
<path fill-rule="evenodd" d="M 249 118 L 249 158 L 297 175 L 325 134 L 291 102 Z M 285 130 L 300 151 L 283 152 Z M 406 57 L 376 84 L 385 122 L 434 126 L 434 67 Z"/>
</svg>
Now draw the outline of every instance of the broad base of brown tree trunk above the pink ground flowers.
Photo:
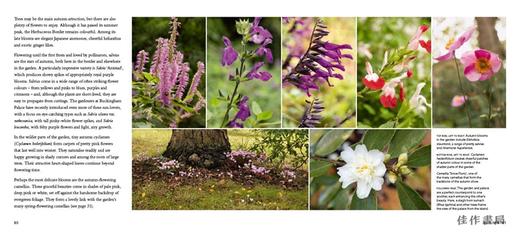
<svg viewBox="0 0 520 232">
<path fill-rule="evenodd" d="M 227 130 L 173 130 L 162 156 L 193 166 L 216 168 L 231 151 Z"/>
</svg>

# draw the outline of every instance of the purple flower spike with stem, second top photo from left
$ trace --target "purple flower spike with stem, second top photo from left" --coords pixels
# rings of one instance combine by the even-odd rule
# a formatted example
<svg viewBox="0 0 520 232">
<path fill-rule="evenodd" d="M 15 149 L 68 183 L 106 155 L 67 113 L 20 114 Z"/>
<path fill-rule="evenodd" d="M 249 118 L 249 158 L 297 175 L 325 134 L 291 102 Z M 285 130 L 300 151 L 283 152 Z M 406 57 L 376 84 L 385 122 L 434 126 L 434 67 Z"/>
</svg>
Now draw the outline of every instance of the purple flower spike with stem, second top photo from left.
<svg viewBox="0 0 520 232">
<path fill-rule="evenodd" d="M 262 81 L 268 81 L 272 78 L 271 73 L 266 70 L 262 70 L 265 62 L 273 62 L 273 54 L 269 45 L 273 42 L 273 36 L 263 26 L 260 25 L 262 18 L 256 17 L 252 23 L 248 20 L 236 21 L 237 33 L 242 36 L 242 52 L 238 53 L 233 47 L 231 40 L 223 36 L 224 48 L 222 50 L 222 56 L 220 64 L 224 67 L 228 67 L 229 70 L 234 70 L 234 73 L 229 74 L 229 80 L 234 81 L 236 84 L 235 91 L 229 99 L 226 115 L 224 115 L 222 126 L 227 127 L 244 127 L 244 122 L 251 116 L 251 112 L 248 106 L 249 98 L 247 96 L 241 96 L 237 94 L 238 86 L 243 81 L 249 81 L 253 79 L 259 79 Z M 249 51 L 246 45 L 252 45 L 254 50 Z M 240 58 L 240 59 L 239 59 Z M 258 59 L 260 58 L 260 61 Z M 235 61 L 240 60 L 240 64 L 236 69 L 232 69 Z M 253 66 L 249 71 L 245 71 L 246 63 L 248 60 L 254 62 Z M 265 61 L 263 61 L 265 60 Z M 231 108 L 236 107 L 237 113 L 233 119 L 228 120 L 229 112 Z"/>
</svg>

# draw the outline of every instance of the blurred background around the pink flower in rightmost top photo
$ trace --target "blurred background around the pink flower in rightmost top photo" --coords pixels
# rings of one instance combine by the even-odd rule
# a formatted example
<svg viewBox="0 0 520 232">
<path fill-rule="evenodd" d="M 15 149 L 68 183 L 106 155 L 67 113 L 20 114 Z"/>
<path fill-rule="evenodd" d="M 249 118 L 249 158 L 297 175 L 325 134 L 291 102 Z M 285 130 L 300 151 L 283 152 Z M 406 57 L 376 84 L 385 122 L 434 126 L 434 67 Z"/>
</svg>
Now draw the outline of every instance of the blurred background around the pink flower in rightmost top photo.
<svg viewBox="0 0 520 232">
<path fill-rule="evenodd" d="M 470 97 L 470 117 L 473 127 L 506 127 L 506 20 L 505 18 L 433 18 L 432 54 L 444 52 L 446 43 L 457 38 L 471 26 L 477 26 L 471 39 L 459 48 L 457 58 L 476 48 L 492 51 L 502 60 L 502 68 L 487 81 L 469 82 L 459 61 L 462 84 Z M 453 60 L 433 64 L 433 123 L 434 127 L 469 127 L 464 107 L 452 107 L 455 95 L 463 95 L 459 89 L 457 71 Z M 492 120 L 488 124 L 488 99 L 485 91 L 491 86 Z M 466 102 L 467 103 L 467 102 Z"/>
</svg>

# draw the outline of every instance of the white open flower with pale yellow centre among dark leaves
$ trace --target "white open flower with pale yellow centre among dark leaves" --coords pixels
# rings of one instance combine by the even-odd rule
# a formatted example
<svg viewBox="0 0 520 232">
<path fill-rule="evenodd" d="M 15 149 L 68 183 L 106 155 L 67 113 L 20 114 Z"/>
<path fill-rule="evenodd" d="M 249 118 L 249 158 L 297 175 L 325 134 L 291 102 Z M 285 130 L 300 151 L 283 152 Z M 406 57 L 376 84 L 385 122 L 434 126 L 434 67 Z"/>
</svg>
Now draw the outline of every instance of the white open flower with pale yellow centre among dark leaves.
<svg viewBox="0 0 520 232">
<path fill-rule="evenodd" d="M 341 159 L 347 164 L 338 168 L 341 187 L 346 188 L 356 182 L 356 195 L 359 199 L 367 198 L 372 189 L 381 190 L 386 172 L 383 163 L 385 155 L 378 150 L 367 151 L 365 145 L 357 145 L 355 151 L 350 147 L 344 149 Z"/>
</svg>

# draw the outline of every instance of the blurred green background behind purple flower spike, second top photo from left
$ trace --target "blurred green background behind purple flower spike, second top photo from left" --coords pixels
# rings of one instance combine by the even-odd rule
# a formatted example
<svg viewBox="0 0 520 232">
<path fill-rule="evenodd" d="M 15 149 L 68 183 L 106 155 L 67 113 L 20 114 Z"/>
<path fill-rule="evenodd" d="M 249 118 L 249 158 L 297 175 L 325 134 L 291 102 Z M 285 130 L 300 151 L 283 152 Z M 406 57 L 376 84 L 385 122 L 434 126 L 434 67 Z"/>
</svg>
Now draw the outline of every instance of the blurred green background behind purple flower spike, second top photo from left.
<svg viewBox="0 0 520 232">
<path fill-rule="evenodd" d="M 242 37 L 236 32 L 235 21 L 238 19 L 249 19 L 253 22 L 254 18 L 208 18 L 208 127 L 220 127 L 224 114 L 226 112 L 227 103 L 218 100 L 218 91 L 222 91 L 226 95 L 231 95 L 235 82 L 229 81 L 229 73 L 235 72 L 235 67 L 239 65 L 239 60 L 230 67 L 222 67 L 220 58 L 224 49 L 222 37 L 228 37 L 237 52 Z M 251 80 L 241 82 L 239 93 L 249 97 L 249 107 L 251 108 L 254 101 L 258 103 L 262 111 L 271 111 L 272 117 L 267 122 L 257 125 L 258 127 L 276 128 L 280 127 L 280 18 L 262 18 L 260 26 L 263 26 L 273 35 L 273 42 L 268 47 L 273 53 L 273 63 L 265 62 L 261 70 L 267 70 L 271 73 L 272 78 L 269 81 Z M 252 50 L 257 46 L 249 46 Z M 246 73 L 251 69 L 253 63 L 246 64 Z M 235 110 L 230 111 L 232 119 L 236 114 Z"/>
</svg>

